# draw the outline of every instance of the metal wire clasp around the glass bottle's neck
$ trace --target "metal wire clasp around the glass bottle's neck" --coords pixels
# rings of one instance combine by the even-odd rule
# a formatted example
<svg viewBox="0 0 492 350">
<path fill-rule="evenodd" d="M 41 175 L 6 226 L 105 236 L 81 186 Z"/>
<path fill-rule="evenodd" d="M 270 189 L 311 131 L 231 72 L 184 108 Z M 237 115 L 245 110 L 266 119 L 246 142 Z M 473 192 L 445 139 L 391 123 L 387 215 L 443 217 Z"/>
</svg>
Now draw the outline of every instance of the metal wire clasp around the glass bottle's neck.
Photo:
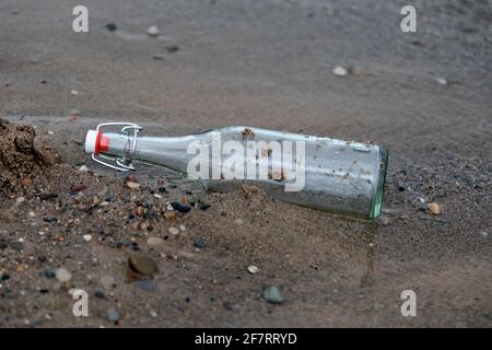
<svg viewBox="0 0 492 350">
<path fill-rule="evenodd" d="M 109 156 L 106 154 L 98 154 L 95 155 L 92 153 L 92 159 L 103 165 L 106 165 L 110 168 L 121 171 L 121 172 L 128 172 L 128 171 L 134 171 L 133 165 L 131 164 L 131 161 L 134 155 L 134 150 L 137 149 L 137 136 L 140 130 L 143 128 L 137 124 L 133 122 L 103 122 L 97 125 L 96 131 L 99 131 L 103 127 L 108 126 L 121 126 L 121 133 L 127 136 L 127 147 L 125 150 L 125 155 L 122 158 L 117 156 Z M 130 130 L 133 129 L 133 132 L 130 135 Z M 110 164 L 108 162 L 114 162 L 114 164 Z M 115 165 L 116 164 L 116 165 Z"/>
</svg>

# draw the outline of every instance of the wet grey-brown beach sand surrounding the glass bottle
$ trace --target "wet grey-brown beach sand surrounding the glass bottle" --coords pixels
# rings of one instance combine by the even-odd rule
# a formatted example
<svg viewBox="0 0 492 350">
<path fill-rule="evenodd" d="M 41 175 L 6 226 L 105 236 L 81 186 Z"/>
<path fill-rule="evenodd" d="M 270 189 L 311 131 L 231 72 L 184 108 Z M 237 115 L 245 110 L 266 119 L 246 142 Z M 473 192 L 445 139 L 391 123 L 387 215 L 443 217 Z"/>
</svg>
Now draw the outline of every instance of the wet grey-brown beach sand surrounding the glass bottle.
<svg viewBox="0 0 492 350">
<path fill-rule="evenodd" d="M 34 125 L 61 158 L 1 192 L 1 326 L 115 326 L 108 308 L 120 313 L 118 326 L 492 325 L 490 1 L 417 2 L 414 34 L 399 30 L 399 2 L 86 3 L 89 34 L 70 30 L 65 1 L 0 5 L 0 115 Z M 151 25 L 161 36 L 145 35 Z M 333 75 L 337 66 L 352 74 Z M 124 174 L 83 152 L 86 130 L 101 121 L 139 122 L 151 135 L 251 125 L 384 144 L 384 220 L 255 191 L 208 194 L 147 165 L 132 191 Z M 74 184 L 87 188 L 73 192 Z M 160 184 L 167 191 L 156 198 Z M 443 213 L 420 211 L 419 198 Z M 161 212 L 173 200 L 210 208 L 169 222 Z M 136 215 L 138 207 L 156 218 Z M 165 243 L 150 247 L 150 236 Z M 151 291 L 126 281 L 136 246 L 159 265 Z M 58 267 L 72 272 L 71 285 L 44 276 Z M 105 290 L 103 276 L 116 288 Z M 285 303 L 261 299 L 270 284 Z M 72 287 L 89 292 L 90 317 L 72 315 Z M 417 317 L 400 314 L 407 289 Z"/>
</svg>

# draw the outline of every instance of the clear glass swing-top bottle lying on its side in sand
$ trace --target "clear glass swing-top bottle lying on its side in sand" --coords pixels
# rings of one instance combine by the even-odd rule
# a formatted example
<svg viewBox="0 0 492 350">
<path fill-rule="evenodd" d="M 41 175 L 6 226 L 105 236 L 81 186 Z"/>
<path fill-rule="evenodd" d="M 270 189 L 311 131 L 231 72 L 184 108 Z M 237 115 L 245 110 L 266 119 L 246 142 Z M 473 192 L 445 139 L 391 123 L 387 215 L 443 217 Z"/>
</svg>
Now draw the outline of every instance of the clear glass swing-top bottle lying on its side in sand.
<svg viewBox="0 0 492 350">
<path fill-rule="evenodd" d="M 120 131 L 102 127 L 122 126 Z M 216 191 L 253 184 L 280 200 L 363 219 L 379 215 L 388 154 L 383 147 L 248 127 L 183 137 L 140 136 L 134 124 L 90 130 L 85 151 L 113 168 L 131 161 L 186 173 Z"/>
</svg>

